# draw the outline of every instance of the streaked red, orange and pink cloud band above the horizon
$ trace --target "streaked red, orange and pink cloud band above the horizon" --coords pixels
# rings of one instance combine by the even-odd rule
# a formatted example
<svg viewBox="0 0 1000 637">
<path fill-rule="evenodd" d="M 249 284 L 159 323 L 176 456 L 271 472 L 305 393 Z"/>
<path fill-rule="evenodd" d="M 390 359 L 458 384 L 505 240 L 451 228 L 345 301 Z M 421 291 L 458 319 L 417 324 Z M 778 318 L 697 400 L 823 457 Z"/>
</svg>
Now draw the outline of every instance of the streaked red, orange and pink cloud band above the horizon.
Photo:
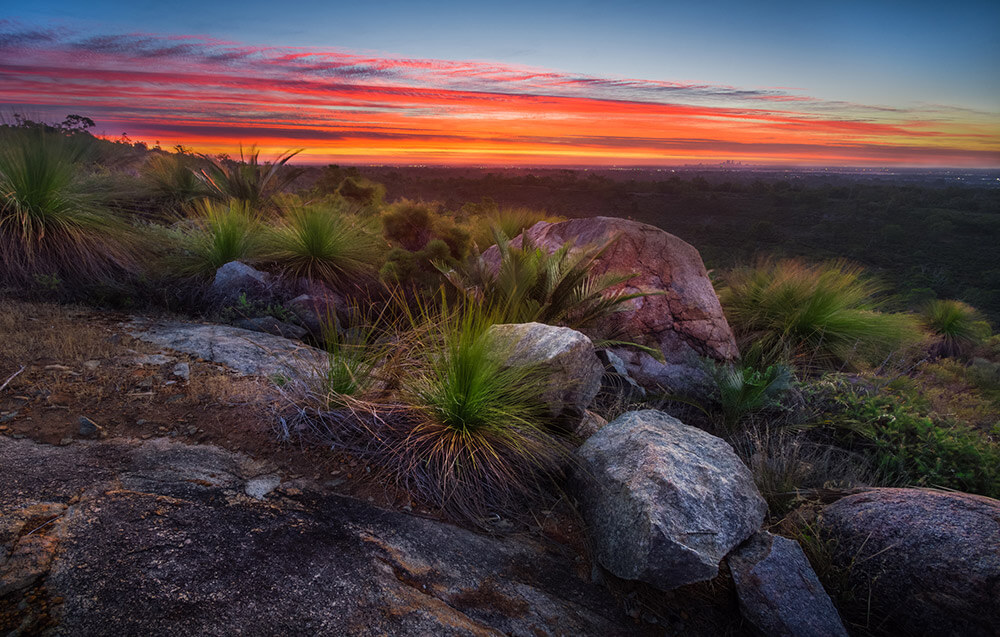
<svg viewBox="0 0 1000 637">
<path fill-rule="evenodd" d="M 0 95 L 111 136 L 315 161 L 1000 165 L 1000 115 L 946 104 L 3 21 Z"/>
</svg>

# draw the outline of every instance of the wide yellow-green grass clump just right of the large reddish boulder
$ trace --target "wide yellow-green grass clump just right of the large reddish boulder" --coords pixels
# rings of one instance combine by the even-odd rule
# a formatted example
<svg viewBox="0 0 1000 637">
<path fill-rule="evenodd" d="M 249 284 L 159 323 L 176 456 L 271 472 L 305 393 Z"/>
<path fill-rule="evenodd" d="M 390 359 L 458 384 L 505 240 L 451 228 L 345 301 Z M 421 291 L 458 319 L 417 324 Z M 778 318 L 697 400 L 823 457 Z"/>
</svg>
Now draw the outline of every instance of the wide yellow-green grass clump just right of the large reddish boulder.
<svg viewBox="0 0 1000 637">
<path fill-rule="evenodd" d="M 730 271 L 719 299 L 745 355 L 822 369 L 877 362 L 917 340 L 910 316 L 878 311 L 882 291 L 844 262 L 764 261 Z"/>
</svg>

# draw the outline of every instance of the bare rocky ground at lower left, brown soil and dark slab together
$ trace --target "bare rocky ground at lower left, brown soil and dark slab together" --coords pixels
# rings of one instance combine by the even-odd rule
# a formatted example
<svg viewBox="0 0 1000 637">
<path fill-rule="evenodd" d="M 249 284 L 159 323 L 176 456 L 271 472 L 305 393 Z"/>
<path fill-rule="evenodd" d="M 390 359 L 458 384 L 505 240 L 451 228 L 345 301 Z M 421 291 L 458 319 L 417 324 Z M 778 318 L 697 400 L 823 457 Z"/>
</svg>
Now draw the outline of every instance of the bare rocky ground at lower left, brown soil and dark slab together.
<svg viewBox="0 0 1000 637">
<path fill-rule="evenodd" d="M 230 356 L 266 335 L 0 310 L 0 383 L 20 370 L 0 395 L 0 634 L 657 632 L 635 592 L 592 581 L 565 510 L 490 537 L 279 442 L 280 397 Z"/>
</svg>

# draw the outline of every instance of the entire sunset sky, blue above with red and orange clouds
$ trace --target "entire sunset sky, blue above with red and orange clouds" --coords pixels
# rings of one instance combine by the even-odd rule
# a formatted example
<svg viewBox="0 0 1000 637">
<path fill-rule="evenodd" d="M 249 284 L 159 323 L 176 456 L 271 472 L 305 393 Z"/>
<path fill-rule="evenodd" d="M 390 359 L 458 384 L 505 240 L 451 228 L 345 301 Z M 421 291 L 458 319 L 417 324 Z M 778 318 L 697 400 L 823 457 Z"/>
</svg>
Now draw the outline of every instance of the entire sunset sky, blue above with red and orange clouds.
<svg viewBox="0 0 1000 637">
<path fill-rule="evenodd" d="M 0 113 L 303 162 L 1000 167 L 1000 2 L 0 0 Z"/>
</svg>

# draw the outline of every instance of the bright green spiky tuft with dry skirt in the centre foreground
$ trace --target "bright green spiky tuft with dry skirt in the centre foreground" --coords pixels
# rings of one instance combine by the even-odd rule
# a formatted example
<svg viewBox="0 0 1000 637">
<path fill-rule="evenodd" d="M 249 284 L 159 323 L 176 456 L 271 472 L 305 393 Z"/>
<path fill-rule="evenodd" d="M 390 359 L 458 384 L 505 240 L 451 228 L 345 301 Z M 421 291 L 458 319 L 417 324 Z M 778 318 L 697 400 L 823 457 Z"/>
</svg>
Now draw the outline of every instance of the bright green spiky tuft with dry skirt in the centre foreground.
<svg viewBox="0 0 1000 637">
<path fill-rule="evenodd" d="M 507 367 L 480 306 L 422 330 L 407 382 L 415 419 L 397 447 L 404 482 L 456 517 L 520 517 L 544 497 L 568 448 L 546 428 L 539 371 Z"/>
</svg>

